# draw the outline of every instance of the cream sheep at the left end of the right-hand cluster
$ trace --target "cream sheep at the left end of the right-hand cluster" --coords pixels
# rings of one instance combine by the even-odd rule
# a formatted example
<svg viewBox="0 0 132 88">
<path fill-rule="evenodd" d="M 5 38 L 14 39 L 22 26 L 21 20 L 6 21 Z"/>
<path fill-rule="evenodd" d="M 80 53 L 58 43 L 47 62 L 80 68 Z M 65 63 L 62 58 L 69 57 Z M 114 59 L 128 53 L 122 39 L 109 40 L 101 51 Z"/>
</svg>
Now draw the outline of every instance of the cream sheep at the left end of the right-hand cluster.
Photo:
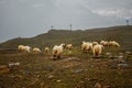
<svg viewBox="0 0 132 88">
<path fill-rule="evenodd" d="M 92 43 L 82 41 L 81 50 L 84 53 L 88 53 L 88 51 L 92 51 Z"/>
</svg>

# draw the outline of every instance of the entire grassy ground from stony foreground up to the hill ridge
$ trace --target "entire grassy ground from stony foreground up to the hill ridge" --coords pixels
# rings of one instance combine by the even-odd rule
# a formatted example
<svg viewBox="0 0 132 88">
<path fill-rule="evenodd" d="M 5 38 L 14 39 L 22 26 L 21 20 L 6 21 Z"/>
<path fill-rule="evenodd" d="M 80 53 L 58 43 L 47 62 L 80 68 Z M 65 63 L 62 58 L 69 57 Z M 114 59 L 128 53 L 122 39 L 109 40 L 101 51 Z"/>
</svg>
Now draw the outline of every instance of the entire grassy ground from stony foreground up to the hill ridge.
<svg viewBox="0 0 132 88">
<path fill-rule="evenodd" d="M 113 26 L 86 31 L 51 30 L 31 38 L 18 37 L 0 44 L 0 88 L 94 88 L 98 82 L 111 88 L 132 87 L 132 26 Z M 81 41 L 116 40 L 121 48 L 106 47 L 99 58 L 80 50 Z M 53 61 L 46 53 L 19 53 L 18 45 L 52 48 L 55 44 L 72 43 L 72 51 L 65 50 L 62 58 Z M 12 50 L 13 48 L 13 50 Z M 130 52 L 130 53 L 127 53 Z M 111 56 L 106 55 L 111 53 Z M 119 67 L 123 54 L 128 67 Z M 19 67 L 2 69 L 10 62 Z M 7 68 L 9 69 L 9 68 Z"/>
</svg>

